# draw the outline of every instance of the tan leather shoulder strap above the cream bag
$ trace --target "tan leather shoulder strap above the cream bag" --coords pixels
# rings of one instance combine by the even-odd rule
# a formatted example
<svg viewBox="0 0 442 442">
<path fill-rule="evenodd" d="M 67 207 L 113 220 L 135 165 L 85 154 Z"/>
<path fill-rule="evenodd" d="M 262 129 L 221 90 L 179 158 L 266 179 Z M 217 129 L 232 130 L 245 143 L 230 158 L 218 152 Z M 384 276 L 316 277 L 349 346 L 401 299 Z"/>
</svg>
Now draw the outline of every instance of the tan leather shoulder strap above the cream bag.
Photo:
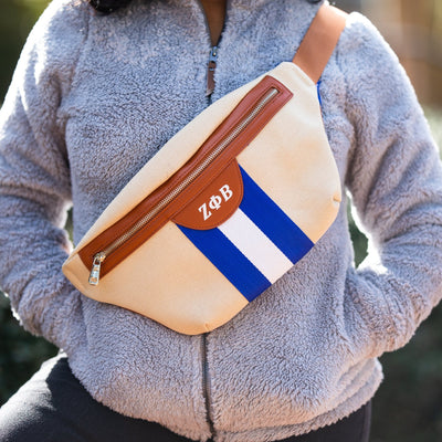
<svg viewBox="0 0 442 442">
<path fill-rule="evenodd" d="M 335 50 L 347 20 L 347 13 L 325 2 L 313 19 L 293 63 L 317 83 Z"/>
</svg>

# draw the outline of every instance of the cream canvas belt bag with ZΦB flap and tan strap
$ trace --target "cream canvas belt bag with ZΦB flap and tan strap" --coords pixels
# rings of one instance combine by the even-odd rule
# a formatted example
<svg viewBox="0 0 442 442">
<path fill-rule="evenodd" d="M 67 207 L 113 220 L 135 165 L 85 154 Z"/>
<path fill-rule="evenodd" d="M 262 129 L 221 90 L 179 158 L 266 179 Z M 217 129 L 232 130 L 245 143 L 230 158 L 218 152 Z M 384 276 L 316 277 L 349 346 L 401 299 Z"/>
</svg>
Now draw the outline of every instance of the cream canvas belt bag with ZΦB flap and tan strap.
<svg viewBox="0 0 442 442">
<path fill-rule="evenodd" d="M 319 9 L 294 62 L 217 101 L 116 196 L 63 265 L 84 295 L 183 334 L 212 330 L 336 218 L 316 81 L 345 25 Z"/>
</svg>

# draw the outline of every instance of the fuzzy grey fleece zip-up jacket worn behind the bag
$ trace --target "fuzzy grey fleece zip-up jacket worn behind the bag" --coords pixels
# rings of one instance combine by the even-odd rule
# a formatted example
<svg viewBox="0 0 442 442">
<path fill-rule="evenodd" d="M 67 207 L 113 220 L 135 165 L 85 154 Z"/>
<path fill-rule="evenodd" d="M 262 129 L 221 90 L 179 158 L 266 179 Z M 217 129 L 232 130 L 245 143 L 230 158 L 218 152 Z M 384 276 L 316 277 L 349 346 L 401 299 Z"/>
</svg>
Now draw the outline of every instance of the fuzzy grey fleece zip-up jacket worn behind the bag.
<svg viewBox="0 0 442 442">
<path fill-rule="evenodd" d="M 231 0 L 212 99 L 291 61 L 318 7 Z M 66 209 L 76 243 L 209 105 L 209 51 L 197 0 L 134 0 L 109 15 L 78 0 L 49 6 L 0 116 L 0 284 L 96 400 L 197 441 L 273 441 L 366 403 L 382 377 L 376 358 L 440 301 L 442 172 L 407 75 L 354 13 L 320 83 L 343 204 L 315 248 L 206 336 L 86 298 L 61 272 Z M 370 238 L 358 269 L 347 194 Z"/>
</svg>

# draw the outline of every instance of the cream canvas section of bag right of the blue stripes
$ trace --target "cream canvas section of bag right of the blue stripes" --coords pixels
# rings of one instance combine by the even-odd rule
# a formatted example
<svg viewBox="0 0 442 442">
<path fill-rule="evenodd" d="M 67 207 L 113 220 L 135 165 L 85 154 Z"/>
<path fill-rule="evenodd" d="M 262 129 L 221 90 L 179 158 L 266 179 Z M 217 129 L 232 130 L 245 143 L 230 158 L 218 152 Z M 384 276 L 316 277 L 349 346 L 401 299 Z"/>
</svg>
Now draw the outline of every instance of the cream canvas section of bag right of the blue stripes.
<svg viewBox="0 0 442 442">
<path fill-rule="evenodd" d="M 272 73 L 294 94 L 246 149 L 241 167 L 316 242 L 335 220 L 340 179 L 316 86 L 291 63 Z"/>
</svg>

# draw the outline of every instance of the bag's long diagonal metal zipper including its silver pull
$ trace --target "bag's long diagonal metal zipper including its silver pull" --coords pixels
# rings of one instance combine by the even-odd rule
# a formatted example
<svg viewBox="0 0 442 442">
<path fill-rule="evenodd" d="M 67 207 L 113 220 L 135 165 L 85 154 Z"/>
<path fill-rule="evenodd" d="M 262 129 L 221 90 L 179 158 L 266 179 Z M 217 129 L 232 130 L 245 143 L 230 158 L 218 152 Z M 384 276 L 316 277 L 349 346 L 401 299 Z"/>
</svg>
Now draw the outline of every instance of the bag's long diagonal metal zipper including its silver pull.
<svg viewBox="0 0 442 442">
<path fill-rule="evenodd" d="M 161 200 L 157 202 L 135 224 L 127 229 L 122 235 L 112 241 L 103 250 L 98 251 L 93 259 L 92 270 L 88 278 L 91 285 L 98 285 L 99 273 L 103 262 L 115 252 L 120 245 L 145 228 L 162 209 L 165 209 L 176 197 L 187 189 L 224 150 L 229 145 L 260 115 L 265 106 L 274 98 L 280 91 L 270 87 L 248 114 L 236 123 L 235 126 L 206 155 L 204 158 Z"/>
</svg>

